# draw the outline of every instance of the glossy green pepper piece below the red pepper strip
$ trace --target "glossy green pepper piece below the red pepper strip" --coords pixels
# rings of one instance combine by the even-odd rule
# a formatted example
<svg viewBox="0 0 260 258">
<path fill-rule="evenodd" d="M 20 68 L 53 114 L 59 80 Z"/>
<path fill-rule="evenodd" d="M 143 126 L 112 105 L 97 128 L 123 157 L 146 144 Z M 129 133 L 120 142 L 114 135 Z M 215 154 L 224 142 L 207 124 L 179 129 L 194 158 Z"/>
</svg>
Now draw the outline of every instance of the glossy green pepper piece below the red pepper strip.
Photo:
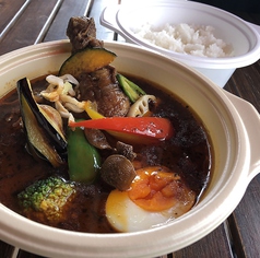
<svg viewBox="0 0 260 258">
<path fill-rule="evenodd" d="M 81 128 L 68 129 L 68 165 L 70 179 L 86 184 L 94 181 L 101 167 L 99 154 Z"/>
</svg>

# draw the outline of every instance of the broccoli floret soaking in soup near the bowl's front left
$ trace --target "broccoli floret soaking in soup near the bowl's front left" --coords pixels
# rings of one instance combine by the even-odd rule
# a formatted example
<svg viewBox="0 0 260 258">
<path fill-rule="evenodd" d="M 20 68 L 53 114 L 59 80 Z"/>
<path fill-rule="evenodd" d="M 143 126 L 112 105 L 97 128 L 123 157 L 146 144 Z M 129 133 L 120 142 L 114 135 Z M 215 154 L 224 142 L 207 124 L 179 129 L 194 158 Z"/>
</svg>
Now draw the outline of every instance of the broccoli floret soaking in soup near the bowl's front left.
<svg viewBox="0 0 260 258">
<path fill-rule="evenodd" d="M 17 195 L 27 218 L 62 221 L 63 209 L 75 196 L 75 185 L 60 177 L 48 177 L 28 186 Z"/>
</svg>

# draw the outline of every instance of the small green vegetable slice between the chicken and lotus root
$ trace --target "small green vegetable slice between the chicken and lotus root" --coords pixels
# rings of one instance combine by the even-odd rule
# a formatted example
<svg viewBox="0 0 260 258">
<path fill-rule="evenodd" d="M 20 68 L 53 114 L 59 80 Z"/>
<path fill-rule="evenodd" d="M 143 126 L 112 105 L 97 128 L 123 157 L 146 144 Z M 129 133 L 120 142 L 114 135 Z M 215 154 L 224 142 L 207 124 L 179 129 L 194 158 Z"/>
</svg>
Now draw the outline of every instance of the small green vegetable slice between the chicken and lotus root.
<svg viewBox="0 0 260 258">
<path fill-rule="evenodd" d="M 117 80 L 119 82 L 119 85 L 122 87 L 125 94 L 129 97 L 129 99 L 132 103 L 137 102 L 140 96 L 145 95 L 145 92 L 140 86 L 131 82 L 122 74 L 118 73 Z"/>
</svg>

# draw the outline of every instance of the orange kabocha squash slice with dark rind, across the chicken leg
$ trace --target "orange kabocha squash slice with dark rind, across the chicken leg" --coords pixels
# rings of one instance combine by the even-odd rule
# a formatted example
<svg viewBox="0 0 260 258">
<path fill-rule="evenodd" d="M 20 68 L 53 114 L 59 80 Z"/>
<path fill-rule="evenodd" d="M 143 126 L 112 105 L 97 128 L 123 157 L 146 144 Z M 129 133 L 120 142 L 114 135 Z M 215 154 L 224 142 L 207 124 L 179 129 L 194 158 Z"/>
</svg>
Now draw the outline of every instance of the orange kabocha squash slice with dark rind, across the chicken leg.
<svg viewBox="0 0 260 258">
<path fill-rule="evenodd" d="M 108 66 L 116 58 L 116 54 L 106 48 L 84 48 L 70 56 L 61 66 L 59 77 L 71 74 L 79 78 L 82 72 L 93 72 L 99 68 Z"/>
</svg>

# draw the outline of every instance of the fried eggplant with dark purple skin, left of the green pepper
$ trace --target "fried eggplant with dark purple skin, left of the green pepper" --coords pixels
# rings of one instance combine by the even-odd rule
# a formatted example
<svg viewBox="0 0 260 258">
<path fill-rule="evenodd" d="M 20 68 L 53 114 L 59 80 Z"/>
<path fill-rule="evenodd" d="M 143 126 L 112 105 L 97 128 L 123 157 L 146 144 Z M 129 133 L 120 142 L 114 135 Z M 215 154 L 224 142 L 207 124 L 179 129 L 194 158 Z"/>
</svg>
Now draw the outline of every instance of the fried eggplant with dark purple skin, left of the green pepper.
<svg viewBox="0 0 260 258">
<path fill-rule="evenodd" d="M 49 161 L 57 167 L 63 164 L 67 140 L 59 113 L 35 102 L 27 78 L 17 81 L 17 93 L 24 131 L 31 154 Z"/>
</svg>

